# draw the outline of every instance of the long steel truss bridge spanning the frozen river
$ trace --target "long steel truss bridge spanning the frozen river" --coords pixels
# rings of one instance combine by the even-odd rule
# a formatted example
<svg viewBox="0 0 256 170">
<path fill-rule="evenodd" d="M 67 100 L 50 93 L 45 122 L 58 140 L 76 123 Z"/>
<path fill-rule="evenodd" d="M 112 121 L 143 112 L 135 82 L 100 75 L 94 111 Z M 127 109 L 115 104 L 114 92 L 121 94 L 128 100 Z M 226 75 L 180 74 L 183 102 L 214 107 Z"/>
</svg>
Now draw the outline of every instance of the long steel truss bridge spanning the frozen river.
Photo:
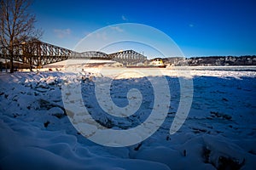
<svg viewBox="0 0 256 170">
<path fill-rule="evenodd" d="M 6 48 L 0 48 L 0 58 L 11 59 Z M 114 54 L 105 54 L 99 51 L 78 53 L 67 48 L 57 47 L 46 42 L 23 42 L 13 48 L 13 60 L 37 67 L 49 65 L 66 59 L 111 59 L 124 65 L 135 65 L 147 60 L 143 54 L 133 50 Z"/>
</svg>

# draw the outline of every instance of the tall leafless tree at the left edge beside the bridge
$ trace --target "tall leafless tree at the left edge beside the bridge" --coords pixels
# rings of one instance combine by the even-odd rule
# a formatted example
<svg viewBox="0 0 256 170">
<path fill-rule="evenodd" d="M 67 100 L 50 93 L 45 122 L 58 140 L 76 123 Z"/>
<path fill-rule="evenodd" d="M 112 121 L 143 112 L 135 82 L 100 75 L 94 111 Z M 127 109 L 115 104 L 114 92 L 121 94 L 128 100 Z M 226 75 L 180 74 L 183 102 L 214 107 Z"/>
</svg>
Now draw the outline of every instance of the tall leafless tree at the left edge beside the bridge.
<svg viewBox="0 0 256 170">
<path fill-rule="evenodd" d="M 14 72 L 14 47 L 21 42 L 39 39 L 43 32 L 34 27 L 36 17 L 31 14 L 30 0 L 0 0 L 0 43 L 10 55 L 10 72 Z"/>
</svg>

